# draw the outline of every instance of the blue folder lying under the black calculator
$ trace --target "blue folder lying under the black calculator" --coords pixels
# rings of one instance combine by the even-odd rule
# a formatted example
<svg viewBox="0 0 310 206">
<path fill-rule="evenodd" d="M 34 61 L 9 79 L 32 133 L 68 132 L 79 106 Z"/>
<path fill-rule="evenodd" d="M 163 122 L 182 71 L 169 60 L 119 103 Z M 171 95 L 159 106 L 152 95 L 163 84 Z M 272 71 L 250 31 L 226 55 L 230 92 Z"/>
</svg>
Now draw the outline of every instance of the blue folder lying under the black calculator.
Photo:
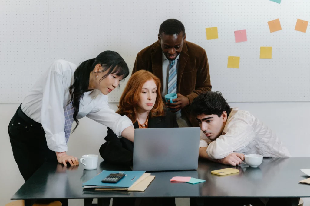
<svg viewBox="0 0 310 206">
<path fill-rule="evenodd" d="M 121 180 L 117 183 L 102 183 L 105 177 L 111 173 L 122 173 L 126 174 Z M 94 178 L 88 180 L 86 183 L 83 183 L 84 188 L 128 188 L 130 187 L 137 179 L 139 179 L 145 171 L 108 171 L 103 170 L 100 174 Z"/>
</svg>

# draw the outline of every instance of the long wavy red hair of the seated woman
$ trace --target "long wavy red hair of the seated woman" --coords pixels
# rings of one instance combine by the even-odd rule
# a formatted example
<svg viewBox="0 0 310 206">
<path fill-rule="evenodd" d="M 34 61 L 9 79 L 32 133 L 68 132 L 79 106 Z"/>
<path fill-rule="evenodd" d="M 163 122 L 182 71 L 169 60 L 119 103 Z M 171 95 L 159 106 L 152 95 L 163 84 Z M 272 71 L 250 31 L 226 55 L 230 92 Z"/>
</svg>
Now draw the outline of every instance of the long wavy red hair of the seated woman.
<svg viewBox="0 0 310 206">
<path fill-rule="evenodd" d="M 161 83 L 151 72 L 146 70 L 139 70 L 135 72 L 129 78 L 126 87 L 122 93 L 121 99 L 119 100 L 118 110 L 116 111 L 120 115 L 126 115 L 131 119 L 132 123 L 137 121 L 137 108 L 140 98 L 142 86 L 148 80 L 153 79 L 156 86 L 156 101 L 153 109 L 150 111 L 150 117 L 164 116 L 164 103 L 162 102 L 161 95 Z"/>
</svg>

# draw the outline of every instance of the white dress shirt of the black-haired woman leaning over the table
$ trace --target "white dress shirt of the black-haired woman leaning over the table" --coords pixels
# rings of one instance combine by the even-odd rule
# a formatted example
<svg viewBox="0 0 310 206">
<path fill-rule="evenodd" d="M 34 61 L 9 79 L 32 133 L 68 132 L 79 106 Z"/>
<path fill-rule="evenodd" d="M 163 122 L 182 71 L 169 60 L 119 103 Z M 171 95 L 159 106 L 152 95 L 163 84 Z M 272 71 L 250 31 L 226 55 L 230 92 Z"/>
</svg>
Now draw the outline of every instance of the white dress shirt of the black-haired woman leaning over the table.
<svg viewBox="0 0 310 206">
<path fill-rule="evenodd" d="M 64 133 L 64 108 L 71 100 L 69 87 L 74 82 L 76 68 L 77 65 L 69 61 L 55 61 L 34 84 L 21 106 L 27 116 L 42 124 L 47 146 L 55 152 L 68 150 Z M 109 108 L 108 96 L 99 90 L 84 93 L 77 119 L 84 116 L 111 128 L 118 137 L 121 137 L 125 128 L 133 126 L 127 116 L 121 116 Z"/>
</svg>

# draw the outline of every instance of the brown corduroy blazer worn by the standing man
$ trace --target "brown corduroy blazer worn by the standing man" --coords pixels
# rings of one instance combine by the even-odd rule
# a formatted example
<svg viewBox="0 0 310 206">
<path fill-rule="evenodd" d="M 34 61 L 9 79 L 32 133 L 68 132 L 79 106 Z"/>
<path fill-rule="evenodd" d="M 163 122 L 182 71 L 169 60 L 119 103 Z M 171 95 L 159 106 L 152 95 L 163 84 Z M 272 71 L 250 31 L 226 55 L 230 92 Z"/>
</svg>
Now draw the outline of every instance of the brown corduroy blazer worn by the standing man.
<svg viewBox="0 0 310 206">
<path fill-rule="evenodd" d="M 185 41 L 178 60 L 177 93 L 188 97 L 189 103 L 199 94 L 211 90 L 209 64 L 206 51 L 197 44 Z M 159 41 L 142 49 L 136 57 L 132 74 L 141 69 L 152 72 L 162 83 L 162 48 Z M 183 108 L 193 127 L 198 127 L 195 117 Z"/>
</svg>

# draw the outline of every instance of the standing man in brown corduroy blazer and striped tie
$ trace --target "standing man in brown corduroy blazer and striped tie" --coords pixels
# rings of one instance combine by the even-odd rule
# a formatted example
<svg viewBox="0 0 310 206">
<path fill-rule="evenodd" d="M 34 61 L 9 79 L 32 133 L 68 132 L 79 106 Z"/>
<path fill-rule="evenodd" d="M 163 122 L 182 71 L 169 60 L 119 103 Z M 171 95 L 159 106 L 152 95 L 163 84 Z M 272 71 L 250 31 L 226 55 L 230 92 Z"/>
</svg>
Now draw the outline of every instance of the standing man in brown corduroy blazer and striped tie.
<svg viewBox="0 0 310 206">
<path fill-rule="evenodd" d="M 158 41 L 137 54 L 132 74 L 141 69 L 155 74 L 161 80 L 163 97 L 168 93 L 178 95 L 175 103 L 166 106 L 177 112 L 179 127 L 198 127 L 188 107 L 199 94 L 211 90 L 209 65 L 206 51 L 185 38 L 184 25 L 179 20 L 164 21 Z"/>
</svg>

